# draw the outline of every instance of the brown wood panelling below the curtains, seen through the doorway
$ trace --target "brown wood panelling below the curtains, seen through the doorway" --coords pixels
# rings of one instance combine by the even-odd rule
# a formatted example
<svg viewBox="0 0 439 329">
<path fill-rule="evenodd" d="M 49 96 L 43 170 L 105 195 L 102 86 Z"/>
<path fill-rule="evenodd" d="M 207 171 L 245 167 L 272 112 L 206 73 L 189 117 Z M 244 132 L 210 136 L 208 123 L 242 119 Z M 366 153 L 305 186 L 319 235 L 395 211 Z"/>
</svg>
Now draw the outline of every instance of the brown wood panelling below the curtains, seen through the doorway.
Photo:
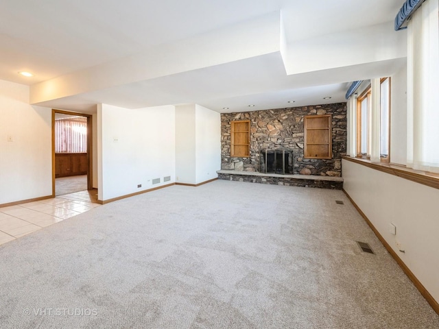
<svg viewBox="0 0 439 329">
<path fill-rule="evenodd" d="M 88 160 L 86 153 L 55 154 L 55 177 L 86 175 Z"/>
</svg>

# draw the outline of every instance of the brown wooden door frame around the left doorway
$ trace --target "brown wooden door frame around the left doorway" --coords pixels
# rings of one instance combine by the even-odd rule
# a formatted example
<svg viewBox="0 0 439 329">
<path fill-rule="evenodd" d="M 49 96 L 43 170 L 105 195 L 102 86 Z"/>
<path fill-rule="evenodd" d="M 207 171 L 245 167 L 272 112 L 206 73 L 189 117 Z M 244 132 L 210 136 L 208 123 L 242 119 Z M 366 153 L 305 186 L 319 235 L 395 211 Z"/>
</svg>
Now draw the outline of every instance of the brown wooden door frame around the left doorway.
<svg viewBox="0 0 439 329">
<path fill-rule="evenodd" d="M 69 114 L 87 118 L 87 190 L 93 190 L 93 124 L 92 115 L 80 112 L 56 110 L 52 108 L 52 197 L 56 197 L 55 191 L 55 114 Z"/>
</svg>

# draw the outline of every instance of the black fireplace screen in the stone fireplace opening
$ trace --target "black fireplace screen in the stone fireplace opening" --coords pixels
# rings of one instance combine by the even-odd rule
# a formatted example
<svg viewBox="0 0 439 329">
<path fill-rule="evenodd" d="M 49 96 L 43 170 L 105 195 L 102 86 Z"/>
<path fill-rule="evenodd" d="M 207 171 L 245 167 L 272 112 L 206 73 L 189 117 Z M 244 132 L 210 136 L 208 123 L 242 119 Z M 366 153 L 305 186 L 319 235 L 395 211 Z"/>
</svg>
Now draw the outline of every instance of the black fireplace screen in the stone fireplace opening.
<svg viewBox="0 0 439 329">
<path fill-rule="evenodd" d="M 293 173 L 293 151 L 289 149 L 261 149 L 261 173 Z"/>
</svg>

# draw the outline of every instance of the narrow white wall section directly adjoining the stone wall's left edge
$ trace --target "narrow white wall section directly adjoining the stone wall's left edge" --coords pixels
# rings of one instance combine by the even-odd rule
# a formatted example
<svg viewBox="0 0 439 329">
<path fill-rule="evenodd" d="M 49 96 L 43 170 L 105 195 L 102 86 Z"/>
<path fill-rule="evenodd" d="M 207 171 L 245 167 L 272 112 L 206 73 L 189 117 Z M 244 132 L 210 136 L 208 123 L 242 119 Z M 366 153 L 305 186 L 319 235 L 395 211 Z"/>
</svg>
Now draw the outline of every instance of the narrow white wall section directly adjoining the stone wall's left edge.
<svg viewBox="0 0 439 329">
<path fill-rule="evenodd" d="M 217 178 L 221 169 L 221 114 L 195 104 L 195 184 Z"/>
</svg>

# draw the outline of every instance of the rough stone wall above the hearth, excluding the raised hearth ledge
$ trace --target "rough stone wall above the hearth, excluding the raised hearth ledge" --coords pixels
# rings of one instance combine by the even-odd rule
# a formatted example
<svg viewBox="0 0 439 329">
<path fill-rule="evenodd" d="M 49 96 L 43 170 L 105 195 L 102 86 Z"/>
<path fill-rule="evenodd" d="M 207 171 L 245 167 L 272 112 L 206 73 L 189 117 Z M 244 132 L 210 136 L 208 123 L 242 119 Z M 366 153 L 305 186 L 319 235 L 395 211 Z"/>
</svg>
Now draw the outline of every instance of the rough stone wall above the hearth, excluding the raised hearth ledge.
<svg viewBox="0 0 439 329">
<path fill-rule="evenodd" d="M 332 114 L 330 160 L 303 157 L 305 115 Z M 250 120 L 250 158 L 230 158 L 230 121 Z M 259 150 L 285 148 L 294 152 L 292 171 L 302 175 L 340 177 L 346 154 L 346 103 L 221 114 L 221 169 L 259 171 Z M 294 164 L 294 165 L 293 165 Z M 290 170 L 291 170 L 290 169 Z"/>
</svg>

